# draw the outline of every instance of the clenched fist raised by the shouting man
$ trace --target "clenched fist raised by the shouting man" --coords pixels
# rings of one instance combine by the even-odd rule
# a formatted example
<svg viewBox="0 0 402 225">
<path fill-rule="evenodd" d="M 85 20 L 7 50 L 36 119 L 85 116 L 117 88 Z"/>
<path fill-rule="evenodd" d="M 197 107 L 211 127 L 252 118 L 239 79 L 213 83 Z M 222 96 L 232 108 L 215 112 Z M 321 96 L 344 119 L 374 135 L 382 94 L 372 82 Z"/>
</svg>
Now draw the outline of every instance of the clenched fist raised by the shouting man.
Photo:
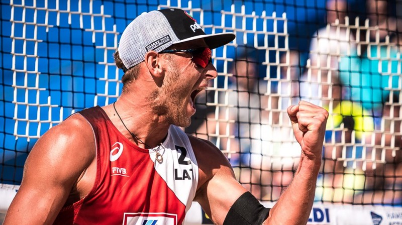
<svg viewBox="0 0 402 225">
<path fill-rule="evenodd" d="M 294 136 L 309 159 L 321 158 L 328 111 L 307 101 L 287 108 Z"/>
</svg>

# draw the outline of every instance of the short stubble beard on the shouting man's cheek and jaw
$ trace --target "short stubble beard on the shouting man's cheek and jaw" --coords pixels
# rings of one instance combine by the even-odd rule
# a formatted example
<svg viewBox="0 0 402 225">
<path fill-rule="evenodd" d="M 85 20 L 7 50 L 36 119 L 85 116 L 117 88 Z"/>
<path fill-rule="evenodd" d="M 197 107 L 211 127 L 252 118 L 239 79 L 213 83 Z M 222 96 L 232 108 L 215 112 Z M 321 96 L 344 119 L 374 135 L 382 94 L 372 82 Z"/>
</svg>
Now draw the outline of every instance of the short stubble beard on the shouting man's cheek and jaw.
<svg viewBox="0 0 402 225">
<path fill-rule="evenodd" d="M 168 124 L 188 127 L 191 124 L 191 117 L 187 116 L 187 98 L 183 96 L 189 94 L 191 87 L 177 85 L 180 72 L 176 64 L 171 63 L 166 75 L 162 87 L 151 94 L 150 100 L 154 102 L 152 110 L 158 116 L 165 117 Z"/>
</svg>

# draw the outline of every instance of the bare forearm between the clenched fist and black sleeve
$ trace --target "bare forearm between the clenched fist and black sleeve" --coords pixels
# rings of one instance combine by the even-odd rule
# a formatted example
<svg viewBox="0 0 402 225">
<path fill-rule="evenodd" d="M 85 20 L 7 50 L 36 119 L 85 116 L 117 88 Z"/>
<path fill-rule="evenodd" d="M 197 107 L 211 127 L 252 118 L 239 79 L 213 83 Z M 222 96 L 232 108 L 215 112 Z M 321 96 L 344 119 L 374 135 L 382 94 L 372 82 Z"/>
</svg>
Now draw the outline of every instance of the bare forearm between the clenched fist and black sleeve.
<svg viewBox="0 0 402 225">
<path fill-rule="evenodd" d="M 302 154 L 291 184 L 280 196 L 265 224 L 306 224 L 316 190 L 321 157 L 308 159 Z"/>
</svg>

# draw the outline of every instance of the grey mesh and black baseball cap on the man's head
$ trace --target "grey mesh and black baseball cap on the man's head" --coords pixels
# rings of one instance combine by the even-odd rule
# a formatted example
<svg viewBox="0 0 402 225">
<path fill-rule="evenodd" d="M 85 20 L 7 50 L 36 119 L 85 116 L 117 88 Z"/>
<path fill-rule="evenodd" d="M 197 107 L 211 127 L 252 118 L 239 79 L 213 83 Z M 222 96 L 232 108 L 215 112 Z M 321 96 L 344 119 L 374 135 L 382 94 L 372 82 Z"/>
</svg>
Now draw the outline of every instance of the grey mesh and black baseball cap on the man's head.
<svg viewBox="0 0 402 225">
<path fill-rule="evenodd" d="M 126 68 L 145 60 L 148 51 L 161 52 L 169 46 L 204 39 L 210 49 L 235 39 L 232 32 L 207 35 L 196 20 L 181 9 L 163 9 L 143 13 L 124 30 L 119 42 L 119 55 Z"/>
</svg>

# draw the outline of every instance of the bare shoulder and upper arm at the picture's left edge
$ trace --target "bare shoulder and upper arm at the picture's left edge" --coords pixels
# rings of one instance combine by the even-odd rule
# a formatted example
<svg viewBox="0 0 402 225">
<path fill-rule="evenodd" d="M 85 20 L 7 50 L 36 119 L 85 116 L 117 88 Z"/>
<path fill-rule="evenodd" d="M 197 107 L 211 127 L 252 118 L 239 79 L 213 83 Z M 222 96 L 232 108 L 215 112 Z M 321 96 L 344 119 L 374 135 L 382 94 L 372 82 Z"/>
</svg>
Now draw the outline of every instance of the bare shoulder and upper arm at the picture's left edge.
<svg viewBox="0 0 402 225">
<path fill-rule="evenodd" d="M 64 124 L 58 126 L 40 138 L 30 152 L 21 187 L 7 212 L 6 224 L 19 221 L 16 219 L 21 217 L 31 224 L 52 223 L 72 185 L 87 167 L 91 154 L 84 151 L 85 144 L 79 146 L 82 142 L 78 136 L 82 133 L 74 134 Z M 77 148 L 83 154 L 79 154 Z"/>
</svg>

